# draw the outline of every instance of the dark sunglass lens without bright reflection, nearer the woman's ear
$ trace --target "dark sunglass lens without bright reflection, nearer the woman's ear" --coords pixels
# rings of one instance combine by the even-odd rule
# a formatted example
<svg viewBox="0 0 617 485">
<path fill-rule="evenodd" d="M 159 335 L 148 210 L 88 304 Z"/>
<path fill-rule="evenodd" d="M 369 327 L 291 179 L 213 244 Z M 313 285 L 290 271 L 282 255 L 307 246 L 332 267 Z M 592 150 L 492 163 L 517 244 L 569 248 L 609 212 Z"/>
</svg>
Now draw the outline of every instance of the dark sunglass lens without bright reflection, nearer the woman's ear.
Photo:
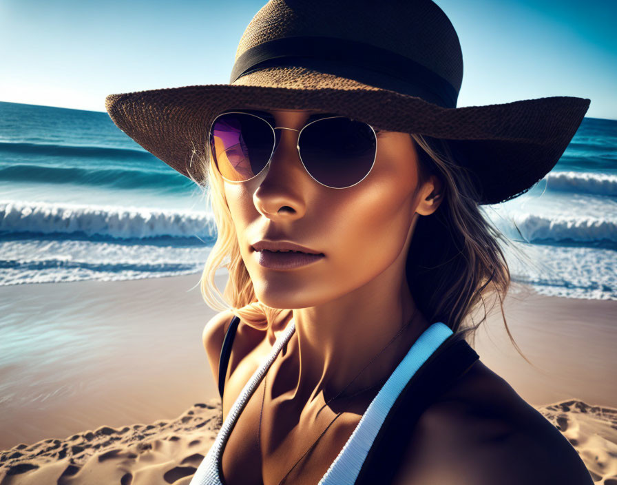
<svg viewBox="0 0 617 485">
<path fill-rule="evenodd" d="M 320 183 L 342 189 L 362 180 L 375 163 L 377 138 L 366 123 L 350 118 L 324 118 L 300 134 L 300 156 Z"/>
</svg>

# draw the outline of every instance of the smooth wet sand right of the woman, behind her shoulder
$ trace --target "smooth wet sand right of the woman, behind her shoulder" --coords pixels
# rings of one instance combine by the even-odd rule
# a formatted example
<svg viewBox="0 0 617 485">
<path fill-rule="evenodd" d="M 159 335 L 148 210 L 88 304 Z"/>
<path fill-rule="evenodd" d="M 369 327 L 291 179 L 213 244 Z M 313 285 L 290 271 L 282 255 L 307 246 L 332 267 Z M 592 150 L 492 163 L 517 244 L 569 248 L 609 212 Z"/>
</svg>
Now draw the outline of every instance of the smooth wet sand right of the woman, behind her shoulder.
<svg viewBox="0 0 617 485">
<path fill-rule="evenodd" d="M 581 400 L 592 406 L 617 406 L 614 351 L 617 300 L 545 296 L 512 284 L 479 327 L 472 347 L 532 406 Z"/>
</svg>

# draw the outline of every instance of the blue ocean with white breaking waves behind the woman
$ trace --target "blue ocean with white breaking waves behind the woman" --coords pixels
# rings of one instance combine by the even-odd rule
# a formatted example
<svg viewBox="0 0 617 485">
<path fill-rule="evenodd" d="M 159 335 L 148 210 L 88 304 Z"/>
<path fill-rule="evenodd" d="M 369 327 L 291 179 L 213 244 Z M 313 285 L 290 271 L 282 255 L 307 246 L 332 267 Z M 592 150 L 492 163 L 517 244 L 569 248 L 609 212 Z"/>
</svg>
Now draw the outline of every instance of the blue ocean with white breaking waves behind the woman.
<svg viewBox="0 0 617 485">
<path fill-rule="evenodd" d="M 0 102 L 0 286 L 199 273 L 206 207 L 106 113 Z M 529 256 L 503 247 L 512 280 L 617 299 L 617 121 L 583 119 L 545 178 L 483 213 Z"/>
</svg>

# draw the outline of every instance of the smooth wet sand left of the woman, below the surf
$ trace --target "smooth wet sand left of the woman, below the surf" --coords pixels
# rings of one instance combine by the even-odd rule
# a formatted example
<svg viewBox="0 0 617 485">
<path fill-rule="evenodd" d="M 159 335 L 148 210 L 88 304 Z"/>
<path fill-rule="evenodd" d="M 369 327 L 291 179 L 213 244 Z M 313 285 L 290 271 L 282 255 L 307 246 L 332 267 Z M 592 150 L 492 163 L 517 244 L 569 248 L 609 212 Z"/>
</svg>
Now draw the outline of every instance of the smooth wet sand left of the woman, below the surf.
<svg viewBox="0 0 617 485">
<path fill-rule="evenodd" d="M 0 449 L 170 420 L 218 396 L 202 344 L 215 312 L 199 278 L 3 287 Z"/>
</svg>

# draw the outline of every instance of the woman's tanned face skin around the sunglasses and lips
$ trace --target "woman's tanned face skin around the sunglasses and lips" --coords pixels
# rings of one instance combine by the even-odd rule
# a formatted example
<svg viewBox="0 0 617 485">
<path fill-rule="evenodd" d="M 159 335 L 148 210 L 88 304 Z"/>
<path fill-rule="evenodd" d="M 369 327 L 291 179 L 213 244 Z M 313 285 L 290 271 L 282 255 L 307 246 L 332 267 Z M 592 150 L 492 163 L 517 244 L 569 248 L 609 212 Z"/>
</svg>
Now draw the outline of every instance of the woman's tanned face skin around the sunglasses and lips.
<svg viewBox="0 0 617 485">
<path fill-rule="evenodd" d="M 313 112 L 271 113 L 276 127 L 300 130 Z M 244 183 L 224 182 L 224 194 L 257 298 L 273 308 L 314 307 L 366 285 L 393 265 L 410 241 L 416 211 L 436 209 L 431 200 L 419 205 L 435 180 L 414 199 L 418 174 L 412 138 L 381 132 L 375 165 L 362 182 L 347 189 L 324 187 L 300 161 L 298 132 L 280 132 L 267 172 Z M 294 269 L 263 267 L 251 247 L 262 239 L 297 243 L 324 257 Z"/>
</svg>

